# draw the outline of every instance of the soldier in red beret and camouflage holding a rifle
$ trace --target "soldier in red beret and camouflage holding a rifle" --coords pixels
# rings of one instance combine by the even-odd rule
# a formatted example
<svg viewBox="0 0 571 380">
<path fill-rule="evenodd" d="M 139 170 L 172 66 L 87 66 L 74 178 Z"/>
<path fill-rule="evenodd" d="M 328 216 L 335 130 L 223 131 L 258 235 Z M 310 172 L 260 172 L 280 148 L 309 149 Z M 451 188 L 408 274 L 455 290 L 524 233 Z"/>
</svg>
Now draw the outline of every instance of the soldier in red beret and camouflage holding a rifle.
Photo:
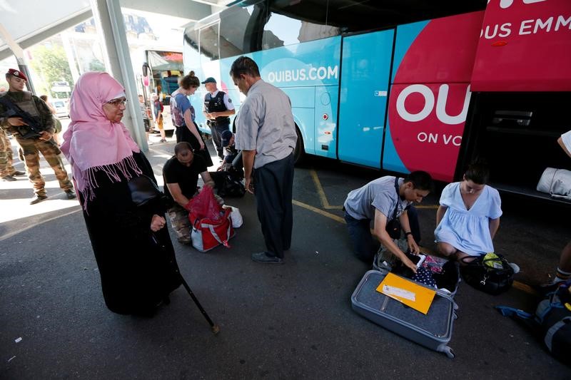
<svg viewBox="0 0 571 380">
<path fill-rule="evenodd" d="M 19 106 L 21 110 L 29 113 L 33 118 L 39 121 L 39 135 L 31 138 L 24 138 L 27 128 L 26 122 L 17 116 L 5 116 L 9 108 L 0 103 L 0 127 L 8 130 L 16 138 L 16 142 L 20 145 L 20 158 L 26 164 L 26 171 L 30 182 L 34 185 L 35 197 L 30 204 L 35 205 L 47 198 L 45 185 L 46 182 L 40 173 L 40 155 L 49 163 L 56 174 L 59 181 L 59 187 L 62 188 L 69 199 L 74 199 L 74 185 L 71 184 L 64 168 L 61 150 L 52 137 L 55 132 L 55 120 L 51 115 L 48 106 L 37 96 L 24 91 L 24 86 L 28 78 L 21 71 L 9 69 L 6 73 L 6 81 L 9 90 L 0 94 L 0 97 L 7 97 L 8 101 Z"/>
</svg>

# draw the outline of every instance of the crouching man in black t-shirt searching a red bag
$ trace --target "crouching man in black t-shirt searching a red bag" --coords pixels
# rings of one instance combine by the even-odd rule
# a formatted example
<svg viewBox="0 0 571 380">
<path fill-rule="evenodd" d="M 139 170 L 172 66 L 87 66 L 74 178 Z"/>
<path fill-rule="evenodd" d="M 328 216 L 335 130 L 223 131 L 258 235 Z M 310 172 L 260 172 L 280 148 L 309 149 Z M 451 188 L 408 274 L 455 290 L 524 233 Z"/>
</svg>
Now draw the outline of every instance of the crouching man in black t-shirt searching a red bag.
<svg viewBox="0 0 571 380">
<path fill-rule="evenodd" d="M 201 175 L 205 186 L 214 186 L 206 162 L 199 155 L 194 155 L 192 147 L 186 141 L 174 147 L 174 155 L 163 166 L 164 192 L 171 203 L 168 217 L 176 233 L 178 242 L 191 243 L 191 222 L 188 220 L 188 202 L 198 194 L 198 175 Z M 220 197 L 218 203 L 223 204 Z"/>
</svg>

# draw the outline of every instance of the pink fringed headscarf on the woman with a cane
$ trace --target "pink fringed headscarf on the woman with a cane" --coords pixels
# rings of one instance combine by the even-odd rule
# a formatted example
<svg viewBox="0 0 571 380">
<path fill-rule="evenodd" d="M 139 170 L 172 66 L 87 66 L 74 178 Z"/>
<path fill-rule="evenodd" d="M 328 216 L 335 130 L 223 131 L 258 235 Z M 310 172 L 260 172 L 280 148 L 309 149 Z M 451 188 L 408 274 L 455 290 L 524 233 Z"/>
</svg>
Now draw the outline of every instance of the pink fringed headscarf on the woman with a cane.
<svg viewBox="0 0 571 380">
<path fill-rule="evenodd" d="M 123 123 L 106 118 L 103 105 L 125 96 L 125 89 L 108 73 L 84 73 L 71 94 L 69 115 L 71 123 L 64 133 L 61 151 L 71 164 L 76 189 L 86 201 L 93 200 L 98 187 L 95 173 L 102 170 L 111 182 L 121 176 L 131 179 L 127 168 L 141 174 L 133 158 L 139 152 L 137 144 Z"/>
</svg>

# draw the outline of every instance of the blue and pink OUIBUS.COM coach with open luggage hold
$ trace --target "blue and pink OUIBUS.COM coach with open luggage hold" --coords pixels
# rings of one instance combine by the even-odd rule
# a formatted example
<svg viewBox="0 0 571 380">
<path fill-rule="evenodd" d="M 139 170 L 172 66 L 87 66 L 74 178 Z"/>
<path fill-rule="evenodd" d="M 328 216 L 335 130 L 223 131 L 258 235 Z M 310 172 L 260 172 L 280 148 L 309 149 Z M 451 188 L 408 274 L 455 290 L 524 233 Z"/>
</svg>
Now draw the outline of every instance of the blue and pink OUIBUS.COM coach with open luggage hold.
<svg viewBox="0 0 571 380">
<path fill-rule="evenodd" d="M 253 58 L 290 97 L 296 160 L 450 182 L 483 157 L 496 188 L 549 197 L 535 190 L 543 170 L 570 166 L 557 138 L 571 130 L 571 1 L 466 1 L 479 5 L 428 20 L 371 4 L 237 1 L 188 26 L 185 73 L 216 78 L 239 111 L 229 70 Z"/>
</svg>

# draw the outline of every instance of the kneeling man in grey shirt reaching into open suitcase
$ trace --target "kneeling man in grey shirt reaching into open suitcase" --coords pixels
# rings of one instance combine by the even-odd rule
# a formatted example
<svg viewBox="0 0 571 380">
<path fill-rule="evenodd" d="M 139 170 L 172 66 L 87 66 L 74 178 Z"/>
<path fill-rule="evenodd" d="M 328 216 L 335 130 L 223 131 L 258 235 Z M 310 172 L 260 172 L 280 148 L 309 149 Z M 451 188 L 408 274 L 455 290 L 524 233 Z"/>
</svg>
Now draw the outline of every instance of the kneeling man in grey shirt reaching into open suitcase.
<svg viewBox="0 0 571 380">
<path fill-rule="evenodd" d="M 422 201 L 432 187 L 433 180 L 430 174 L 419 170 L 410 173 L 404 179 L 381 177 L 349 192 L 343 208 L 355 255 L 366 262 L 373 260 L 377 248 L 369 228 L 370 221 L 373 220 L 375 237 L 404 265 L 416 272 L 416 265 L 395 244 L 386 226 L 387 222 L 393 219 L 396 210 L 396 217 L 405 231 L 410 252 L 417 254 L 416 240 L 420 240 L 420 232 L 411 230 L 410 227 L 418 226 L 418 222 L 415 220 L 414 223 L 410 223 L 408 214 L 413 202 Z"/>
</svg>

